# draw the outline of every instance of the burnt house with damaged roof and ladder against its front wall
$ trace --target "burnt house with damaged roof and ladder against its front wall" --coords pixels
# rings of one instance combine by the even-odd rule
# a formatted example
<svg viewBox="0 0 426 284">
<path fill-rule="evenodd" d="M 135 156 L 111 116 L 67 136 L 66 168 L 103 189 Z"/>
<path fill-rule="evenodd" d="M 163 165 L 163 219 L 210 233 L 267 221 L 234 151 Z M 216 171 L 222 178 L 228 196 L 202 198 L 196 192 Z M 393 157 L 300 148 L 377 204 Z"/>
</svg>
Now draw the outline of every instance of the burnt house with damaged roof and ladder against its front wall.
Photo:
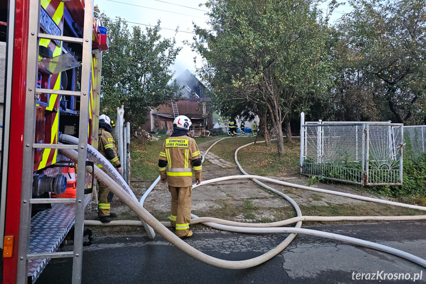
<svg viewBox="0 0 426 284">
<path fill-rule="evenodd" d="M 210 97 L 206 95 L 204 84 L 188 69 L 176 78 L 176 82 L 181 86 L 179 93 L 175 94 L 176 99 L 152 110 L 144 129 L 147 131 L 173 129 L 173 121 L 178 115 L 189 117 L 194 129 L 213 128 L 213 116 L 207 105 Z"/>
</svg>

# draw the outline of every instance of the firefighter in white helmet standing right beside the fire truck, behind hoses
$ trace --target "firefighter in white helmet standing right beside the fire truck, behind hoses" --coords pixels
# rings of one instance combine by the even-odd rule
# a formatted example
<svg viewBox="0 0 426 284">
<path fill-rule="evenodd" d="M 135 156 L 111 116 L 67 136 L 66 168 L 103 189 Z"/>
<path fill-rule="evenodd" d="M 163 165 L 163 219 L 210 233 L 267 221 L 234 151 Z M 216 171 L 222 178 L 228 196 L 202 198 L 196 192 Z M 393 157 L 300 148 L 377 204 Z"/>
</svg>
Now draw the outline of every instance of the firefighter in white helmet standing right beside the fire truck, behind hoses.
<svg viewBox="0 0 426 284">
<path fill-rule="evenodd" d="M 98 151 L 105 158 L 110 160 L 110 162 L 116 166 L 117 171 L 121 174 L 121 164 L 117 157 L 116 143 L 113 135 L 111 135 L 111 127 L 114 126 L 114 122 L 106 115 L 101 115 L 99 117 Z M 105 171 L 102 165 L 98 164 L 98 167 Z M 99 183 L 98 216 L 102 223 L 111 222 L 111 217 L 117 216 L 116 213 L 111 212 L 111 200 L 113 197 L 114 194 L 110 192 L 108 187 Z"/>
</svg>

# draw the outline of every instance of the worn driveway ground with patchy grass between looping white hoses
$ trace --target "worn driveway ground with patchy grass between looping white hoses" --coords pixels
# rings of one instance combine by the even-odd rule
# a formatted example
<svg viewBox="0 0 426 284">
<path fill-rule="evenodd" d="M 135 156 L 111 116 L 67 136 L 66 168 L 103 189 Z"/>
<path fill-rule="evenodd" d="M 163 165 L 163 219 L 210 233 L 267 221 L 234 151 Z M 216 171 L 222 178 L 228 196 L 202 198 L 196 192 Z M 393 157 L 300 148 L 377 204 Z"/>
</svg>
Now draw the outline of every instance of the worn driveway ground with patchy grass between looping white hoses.
<svg viewBox="0 0 426 284">
<path fill-rule="evenodd" d="M 212 141 L 198 145 L 200 151 L 206 150 Z M 214 147 L 211 153 L 215 153 Z M 208 161 L 208 160 L 207 160 Z M 206 162 L 202 168 L 202 179 L 212 179 L 230 175 L 240 175 L 241 172 L 235 165 L 221 167 L 215 163 Z M 250 172 L 249 172 L 250 173 Z M 308 185 L 310 180 L 302 176 L 284 175 L 281 177 L 271 177 L 290 183 Z M 130 186 L 139 199 L 153 181 L 133 181 Z M 319 194 L 316 192 L 285 187 L 277 184 L 267 183 L 272 188 L 281 191 L 291 197 L 302 209 L 304 215 L 415 215 L 423 212 L 368 203 L 359 200 L 339 197 L 329 194 Z M 311 185 L 327 190 L 361 195 L 361 192 L 351 189 L 348 186 L 332 183 L 318 183 Z M 363 196 L 374 197 L 368 193 Z M 145 201 L 145 208 L 150 211 L 158 220 L 169 221 L 171 197 L 166 184 L 158 183 L 152 193 Z M 138 220 L 138 217 L 124 203 L 117 198 L 111 203 L 112 211 L 118 214 L 120 220 Z M 284 218 L 296 216 L 293 206 L 282 197 L 263 189 L 254 182 L 246 179 L 228 180 L 217 182 L 195 188 L 192 194 L 192 213 L 198 216 L 210 216 L 241 222 L 271 222 Z M 97 219 L 97 208 L 92 203 L 92 210 L 86 214 L 86 219 Z M 318 224 L 312 223 L 312 224 Z M 192 226 L 195 230 L 212 230 L 201 224 Z M 129 234 L 140 233 L 143 227 L 102 227 L 94 228 L 97 235 Z"/>
</svg>

